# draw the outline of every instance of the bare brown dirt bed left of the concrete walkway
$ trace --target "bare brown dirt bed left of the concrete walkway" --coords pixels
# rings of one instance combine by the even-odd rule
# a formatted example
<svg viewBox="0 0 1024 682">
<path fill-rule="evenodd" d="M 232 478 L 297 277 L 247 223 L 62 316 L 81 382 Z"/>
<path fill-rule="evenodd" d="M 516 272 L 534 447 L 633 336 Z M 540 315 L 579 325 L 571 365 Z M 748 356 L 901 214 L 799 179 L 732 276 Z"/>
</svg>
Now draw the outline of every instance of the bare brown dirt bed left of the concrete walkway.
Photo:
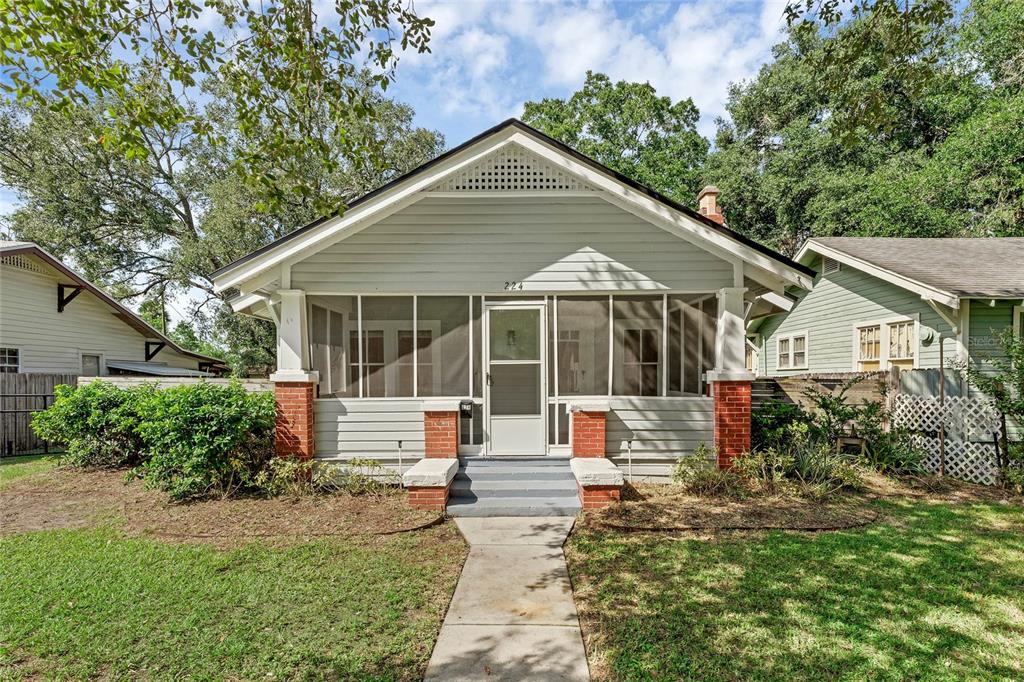
<svg viewBox="0 0 1024 682">
<path fill-rule="evenodd" d="M 187 504 L 146 491 L 124 472 L 55 469 L 0 492 L 0 536 L 113 523 L 129 536 L 238 546 L 323 537 L 373 539 L 427 526 L 436 512 L 411 509 L 404 494 L 308 498 L 242 498 Z"/>
</svg>

